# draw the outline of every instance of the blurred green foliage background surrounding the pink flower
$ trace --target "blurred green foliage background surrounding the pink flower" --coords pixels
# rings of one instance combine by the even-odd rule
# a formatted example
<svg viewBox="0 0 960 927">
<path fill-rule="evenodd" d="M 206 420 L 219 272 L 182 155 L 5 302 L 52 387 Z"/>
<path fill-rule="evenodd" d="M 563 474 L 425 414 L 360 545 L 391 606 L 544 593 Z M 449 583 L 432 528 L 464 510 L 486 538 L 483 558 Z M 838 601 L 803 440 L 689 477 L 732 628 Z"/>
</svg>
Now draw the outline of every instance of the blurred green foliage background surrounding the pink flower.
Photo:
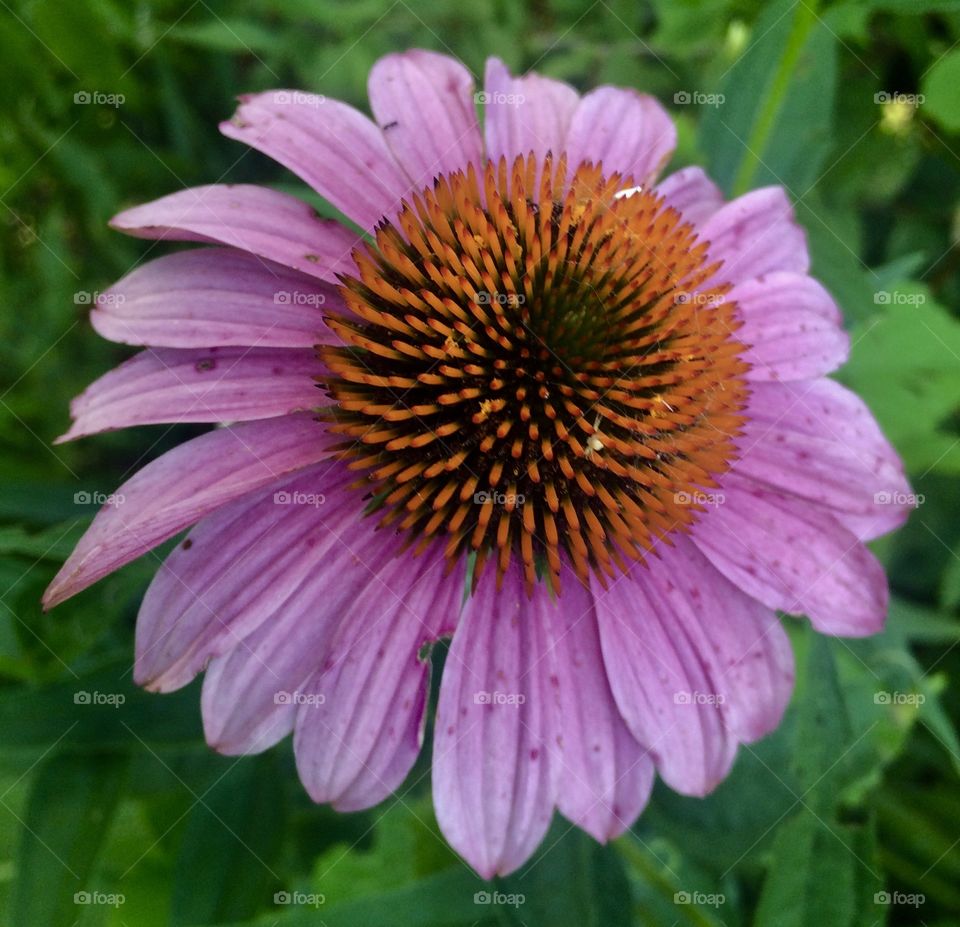
<svg viewBox="0 0 960 927">
<path fill-rule="evenodd" d="M 960 0 L 0 0 L 5 922 L 960 923 L 958 43 Z M 475 73 L 496 54 L 584 90 L 647 90 L 679 125 L 672 167 L 705 165 L 727 193 L 784 184 L 852 334 L 840 379 L 923 497 L 876 545 L 894 592 L 887 632 L 815 640 L 791 621 L 798 685 L 780 729 L 705 800 L 658 785 L 611 846 L 558 818 L 495 886 L 522 895 L 516 906 L 476 903 L 484 885 L 437 834 L 428 757 L 393 800 L 337 815 L 306 798 L 289 742 L 239 760 L 209 751 L 196 684 L 136 690 L 133 624 L 155 557 L 51 614 L 38 606 L 92 517 L 76 493 L 110 492 L 200 431 L 51 446 L 69 399 L 131 353 L 86 322 L 87 294 L 147 247 L 107 220 L 228 179 L 302 193 L 220 137 L 233 97 L 288 86 L 365 107 L 370 66 L 410 46 Z M 77 104 L 82 91 L 124 99 Z M 683 91 L 723 102 L 675 102 Z M 81 691 L 125 701 L 76 704 Z M 281 891 L 300 903 L 276 903 Z M 682 892 L 702 903 L 677 903 Z"/>
</svg>

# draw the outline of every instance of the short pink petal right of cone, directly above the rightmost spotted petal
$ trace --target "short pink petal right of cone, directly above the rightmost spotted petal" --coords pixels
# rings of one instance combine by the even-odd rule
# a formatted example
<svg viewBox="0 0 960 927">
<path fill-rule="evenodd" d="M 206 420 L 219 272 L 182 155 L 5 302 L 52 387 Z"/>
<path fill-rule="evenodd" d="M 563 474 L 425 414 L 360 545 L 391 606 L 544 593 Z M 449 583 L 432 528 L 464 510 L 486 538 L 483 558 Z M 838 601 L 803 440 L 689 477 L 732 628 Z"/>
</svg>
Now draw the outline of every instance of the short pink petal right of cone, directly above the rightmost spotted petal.
<svg viewBox="0 0 960 927">
<path fill-rule="evenodd" d="M 721 274 L 723 271 L 721 271 Z M 743 320 L 737 339 L 750 345 L 743 358 L 749 380 L 809 380 L 847 359 L 850 339 L 840 310 L 812 277 L 789 271 L 738 283 L 727 300 Z"/>
</svg>

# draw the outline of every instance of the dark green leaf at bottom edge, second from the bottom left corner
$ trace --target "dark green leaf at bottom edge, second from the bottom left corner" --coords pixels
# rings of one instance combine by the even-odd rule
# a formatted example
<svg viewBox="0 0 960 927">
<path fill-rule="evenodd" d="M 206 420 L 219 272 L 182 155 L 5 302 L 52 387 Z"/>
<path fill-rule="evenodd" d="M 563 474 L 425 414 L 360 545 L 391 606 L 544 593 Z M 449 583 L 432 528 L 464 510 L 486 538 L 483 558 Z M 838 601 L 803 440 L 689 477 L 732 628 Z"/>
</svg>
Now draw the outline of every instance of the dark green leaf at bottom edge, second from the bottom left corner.
<svg viewBox="0 0 960 927">
<path fill-rule="evenodd" d="M 171 927 L 220 924 L 268 907 L 284 832 L 276 754 L 237 759 L 199 796 L 177 858 Z"/>
</svg>

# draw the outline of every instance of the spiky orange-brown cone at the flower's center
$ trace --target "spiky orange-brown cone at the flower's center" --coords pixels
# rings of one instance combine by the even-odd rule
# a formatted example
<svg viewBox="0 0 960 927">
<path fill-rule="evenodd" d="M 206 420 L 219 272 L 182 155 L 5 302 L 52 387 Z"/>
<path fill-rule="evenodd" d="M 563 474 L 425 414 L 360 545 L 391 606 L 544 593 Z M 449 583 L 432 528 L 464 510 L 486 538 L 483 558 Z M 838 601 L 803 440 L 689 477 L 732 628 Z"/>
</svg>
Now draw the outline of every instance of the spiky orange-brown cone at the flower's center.
<svg viewBox="0 0 960 927">
<path fill-rule="evenodd" d="M 342 278 L 337 453 L 384 525 L 474 581 L 601 581 L 688 530 L 734 459 L 748 369 L 707 243 L 631 179 L 531 154 L 439 177 Z M 538 195 L 535 195 L 538 194 Z M 691 504 L 693 503 L 693 504 Z"/>
</svg>

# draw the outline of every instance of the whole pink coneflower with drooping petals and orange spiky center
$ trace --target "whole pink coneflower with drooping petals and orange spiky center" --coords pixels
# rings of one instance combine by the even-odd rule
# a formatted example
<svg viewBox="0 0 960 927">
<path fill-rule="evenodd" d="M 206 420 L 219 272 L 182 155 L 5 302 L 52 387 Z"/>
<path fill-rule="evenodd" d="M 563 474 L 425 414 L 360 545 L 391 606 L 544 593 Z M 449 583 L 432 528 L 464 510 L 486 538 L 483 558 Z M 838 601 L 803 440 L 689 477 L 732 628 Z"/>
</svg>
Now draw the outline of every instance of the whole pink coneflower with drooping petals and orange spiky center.
<svg viewBox="0 0 960 927">
<path fill-rule="evenodd" d="M 490 877 L 554 809 L 606 840 L 654 770 L 716 786 L 789 699 L 777 610 L 881 629 L 864 541 L 909 487 L 825 379 L 848 339 L 781 188 L 725 203 L 697 167 L 658 180 L 675 130 L 632 90 L 581 97 L 491 59 L 475 94 L 424 51 L 379 61 L 369 90 L 372 120 L 278 91 L 222 126 L 362 233 L 247 185 L 113 220 L 212 247 L 94 307 L 145 350 L 65 438 L 223 427 L 126 482 L 46 604 L 194 526 L 144 598 L 137 682 L 205 670 L 209 743 L 292 731 L 307 791 L 343 810 L 403 783 L 450 638 L 434 802 Z"/>
</svg>

